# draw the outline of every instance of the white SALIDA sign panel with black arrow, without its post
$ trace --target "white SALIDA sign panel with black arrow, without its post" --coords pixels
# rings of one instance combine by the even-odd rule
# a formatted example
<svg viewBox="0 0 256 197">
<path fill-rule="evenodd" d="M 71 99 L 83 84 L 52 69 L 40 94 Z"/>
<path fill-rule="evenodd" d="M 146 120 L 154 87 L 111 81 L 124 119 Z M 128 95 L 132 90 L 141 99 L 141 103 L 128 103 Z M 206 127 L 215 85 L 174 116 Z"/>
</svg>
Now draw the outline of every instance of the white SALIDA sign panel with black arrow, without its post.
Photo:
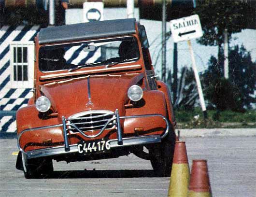
<svg viewBox="0 0 256 197">
<path fill-rule="evenodd" d="M 197 14 L 170 21 L 171 34 L 174 42 L 181 42 L 203 35 L 199 16 Z"/>
</svg>

